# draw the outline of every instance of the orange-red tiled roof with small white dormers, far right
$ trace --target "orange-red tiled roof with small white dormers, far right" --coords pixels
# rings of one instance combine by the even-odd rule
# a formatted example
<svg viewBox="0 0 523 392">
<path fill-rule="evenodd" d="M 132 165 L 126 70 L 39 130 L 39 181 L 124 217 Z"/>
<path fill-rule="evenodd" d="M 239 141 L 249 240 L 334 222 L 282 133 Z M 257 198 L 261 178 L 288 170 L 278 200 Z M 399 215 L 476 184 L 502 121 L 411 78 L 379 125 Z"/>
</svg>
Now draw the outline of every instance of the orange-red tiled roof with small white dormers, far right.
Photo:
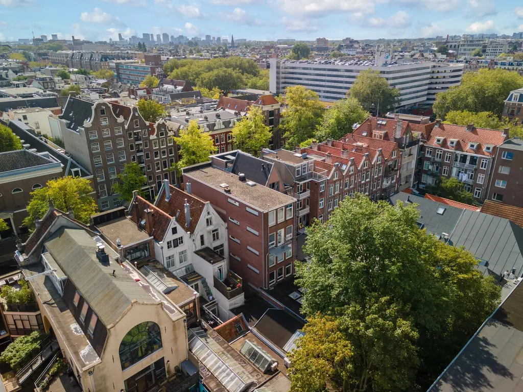
<svg viewBox="0 0 523 392">
<path fill-rule="evenodd" d="M 436 143 L 436 138 L 444 138 L 441 144 Z M 454 147 L 449 145 L 450 140 L 457 140 L 458 142 Z M 453 149 L 464 153 L 471 153 L 477 155 L 493 156 L 494 152 L 485 152 L 485 145 L 499 146 L 506 139 L 506 136 L 502 131 L 485 128 L 472 128 L 472 131 L 467 131 L 466 125 L 454 125 L 441 123 L 439 126 L 435 126 L 430 137 L 426 143 L 427 146 L 441 147 L 447 149 Z M 469 148 L 469 142 L 476 143 L 475 149 Z"/>
</svg>

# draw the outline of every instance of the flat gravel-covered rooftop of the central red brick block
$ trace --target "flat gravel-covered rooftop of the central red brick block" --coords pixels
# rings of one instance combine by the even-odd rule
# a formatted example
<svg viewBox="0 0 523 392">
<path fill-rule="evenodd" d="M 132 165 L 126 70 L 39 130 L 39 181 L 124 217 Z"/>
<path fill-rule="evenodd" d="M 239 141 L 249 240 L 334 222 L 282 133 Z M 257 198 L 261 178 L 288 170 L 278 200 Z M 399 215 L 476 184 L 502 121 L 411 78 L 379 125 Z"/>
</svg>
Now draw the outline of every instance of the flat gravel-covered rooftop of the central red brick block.
<svg viewBox="0 0 523 392">
<path fill-rule="evenodd" d="M 234 199 L 256 207 L 260 211 L 271 211 L 276 207 L 295 201 L 294 198 L 286 194 L 257 185 L 256 182 L 252 182 L 254 186 L 250 186 L 249 181 L 240 181 L 235 174 L 214 168 L 210 166 L 210 163 L 209 166 L 197 165 L 193 166 L 192 169 L 188 167 L 183 172 L 184 176 L 206 183 Z M 224 184 L 228 186 L 231 193 L 225 193 Z"/>
</svg>

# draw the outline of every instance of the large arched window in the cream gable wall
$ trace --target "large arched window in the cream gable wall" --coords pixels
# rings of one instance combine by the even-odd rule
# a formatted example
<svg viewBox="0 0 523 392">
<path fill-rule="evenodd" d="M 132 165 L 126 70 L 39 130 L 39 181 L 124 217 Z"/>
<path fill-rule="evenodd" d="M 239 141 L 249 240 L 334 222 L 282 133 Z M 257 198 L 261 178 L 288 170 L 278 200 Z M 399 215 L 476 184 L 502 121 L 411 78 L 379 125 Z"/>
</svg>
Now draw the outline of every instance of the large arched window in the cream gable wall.
<svg viewBox="0 0 523 392">
<path fill-rule="evenodd" d="M 161 348 L 160 327 L 155 322 L 145 321 L 134 326 L 120 343 L 119 354 L 122 370 Z"/>
</svg>

